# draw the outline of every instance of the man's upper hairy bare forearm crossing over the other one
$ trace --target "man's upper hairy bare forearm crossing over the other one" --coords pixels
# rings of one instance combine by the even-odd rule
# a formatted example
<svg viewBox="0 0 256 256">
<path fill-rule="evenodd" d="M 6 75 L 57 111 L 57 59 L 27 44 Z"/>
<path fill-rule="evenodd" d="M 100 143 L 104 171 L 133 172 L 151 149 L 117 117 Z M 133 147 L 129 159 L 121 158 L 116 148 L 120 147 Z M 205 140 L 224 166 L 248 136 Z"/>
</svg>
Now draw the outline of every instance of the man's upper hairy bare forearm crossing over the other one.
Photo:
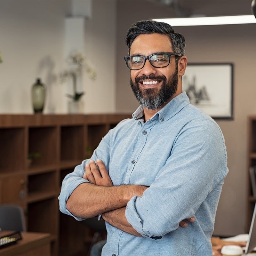
<svg viewBox="0 0 256 256">
<path fill-rule="evenodd" d="M 66 207 L 77 217 L 91 218 L 124 207 L 133 196 L 141 196 L 146 188 L 139 185 L 97 186 L 86 182 L 72 192 Z"/>
</svg>

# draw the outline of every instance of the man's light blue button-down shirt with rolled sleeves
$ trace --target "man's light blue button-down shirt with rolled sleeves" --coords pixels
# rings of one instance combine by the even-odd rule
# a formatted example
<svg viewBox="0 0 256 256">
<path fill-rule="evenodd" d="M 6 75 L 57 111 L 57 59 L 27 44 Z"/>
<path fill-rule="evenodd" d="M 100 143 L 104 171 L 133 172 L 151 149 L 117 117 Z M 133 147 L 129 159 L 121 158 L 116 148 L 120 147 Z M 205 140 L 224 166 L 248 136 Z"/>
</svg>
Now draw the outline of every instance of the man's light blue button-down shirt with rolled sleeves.
<svg viewBox="0 0 256 256">
<path fill-rule="evenodd" d="M 101 140 L 101 159 L 114 186 L 150 186 L 134 196 L 125 216 L 143 237 L 106 223 L 102 256 L 212 256 L 211 236 L 223 180 L 228 173 L 224 138 L 215 121 L 189 103 L 185 92 L 144 123 L 140 106 Z M 63 180 L 60 211 L 81 183 L 84 160 Z M 86 196 L 86 195 L 85 195 Z M 194 223 L 179 222 L 195 216 Z M 74 216 L 76 220 L 82 220 Z"/>
</svg>

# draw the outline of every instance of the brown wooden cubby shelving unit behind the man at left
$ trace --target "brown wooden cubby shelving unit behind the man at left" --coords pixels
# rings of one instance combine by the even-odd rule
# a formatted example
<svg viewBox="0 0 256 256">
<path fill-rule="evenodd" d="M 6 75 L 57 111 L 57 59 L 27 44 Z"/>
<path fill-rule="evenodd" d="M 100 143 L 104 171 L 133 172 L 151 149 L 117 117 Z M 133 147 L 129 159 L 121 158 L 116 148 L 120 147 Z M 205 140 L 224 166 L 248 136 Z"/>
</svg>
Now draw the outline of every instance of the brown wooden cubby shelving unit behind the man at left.
<svg viewBox="0 0 256 256">
<path fill-rule="evenodd" d="M 0 115 L 0 204 L 21 205 L 28 231 L 51 233 L 51 255 L 78 255 L 90 241 L 83 223 L 60 213 L 57 197 L 64 177 L 125 118 L 131 115 Z"/>
</svg>

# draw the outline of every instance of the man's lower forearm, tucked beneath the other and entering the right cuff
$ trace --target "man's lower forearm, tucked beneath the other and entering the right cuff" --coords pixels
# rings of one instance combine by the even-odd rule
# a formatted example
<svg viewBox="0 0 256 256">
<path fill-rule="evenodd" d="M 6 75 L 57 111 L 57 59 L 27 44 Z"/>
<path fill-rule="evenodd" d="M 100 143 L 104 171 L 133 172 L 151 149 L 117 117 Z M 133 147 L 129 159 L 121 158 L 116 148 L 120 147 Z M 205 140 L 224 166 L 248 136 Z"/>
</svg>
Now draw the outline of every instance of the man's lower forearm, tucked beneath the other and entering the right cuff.
<svg viewBox="0 0 256 256">
<path fill-rule="evenodd" d="M 122 207 L 113 211 L 105 212 L 102 214 L 103 220 L 107 221 L 110 225 L 123 230 L 126 233 L 134 236 L 141 236 L 125 217 L 126 207 Z"/>
</svg>

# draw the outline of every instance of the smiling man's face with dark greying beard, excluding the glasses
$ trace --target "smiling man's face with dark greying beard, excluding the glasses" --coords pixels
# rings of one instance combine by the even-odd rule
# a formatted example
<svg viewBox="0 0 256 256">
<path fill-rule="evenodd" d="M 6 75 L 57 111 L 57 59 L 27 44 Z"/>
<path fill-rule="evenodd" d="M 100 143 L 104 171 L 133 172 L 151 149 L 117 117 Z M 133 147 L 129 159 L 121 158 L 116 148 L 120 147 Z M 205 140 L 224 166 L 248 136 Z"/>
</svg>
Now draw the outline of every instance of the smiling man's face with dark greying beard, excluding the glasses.
<svg viewBox="0 0 256 256">
<path fill-rule="evenodd" d="M 141 34 L 132 45 L 130 55 L 148 56 L 159 52 L 173 52 L 166 35 Z M 131 88 L 137 100 L 147 109 L 161 108 L 176 96 L 178 75 L 175 57 L 165 68 L 154 68 L 148 60 L 142 69 L 131 70 Z"/>
</svg>

